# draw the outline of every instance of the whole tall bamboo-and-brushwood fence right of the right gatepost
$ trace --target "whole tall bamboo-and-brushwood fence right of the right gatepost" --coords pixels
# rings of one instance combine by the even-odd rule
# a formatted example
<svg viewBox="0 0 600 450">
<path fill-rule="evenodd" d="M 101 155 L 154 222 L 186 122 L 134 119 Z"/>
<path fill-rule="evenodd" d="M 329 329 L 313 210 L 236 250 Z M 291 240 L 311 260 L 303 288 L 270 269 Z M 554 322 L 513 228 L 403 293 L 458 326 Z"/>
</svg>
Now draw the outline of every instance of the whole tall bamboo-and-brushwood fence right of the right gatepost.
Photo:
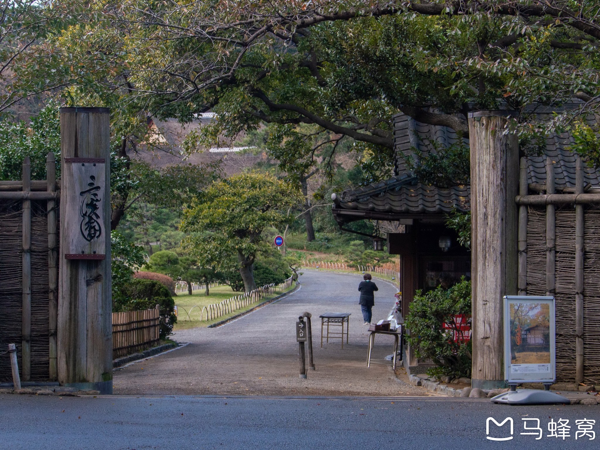
<svg viewBox="0 0 600 450">
<path fill-rule="evenodd" d="M 520 295 L 556 299 L 557 380 L 599 383 L 600 196 L 584 191 L 580 160 L 577 185 L 562 193 L 556 193 L 550 158 L 545 185 L 525 185 L 526 170 L 526 161 L 521 161 Z"/>
</svg>

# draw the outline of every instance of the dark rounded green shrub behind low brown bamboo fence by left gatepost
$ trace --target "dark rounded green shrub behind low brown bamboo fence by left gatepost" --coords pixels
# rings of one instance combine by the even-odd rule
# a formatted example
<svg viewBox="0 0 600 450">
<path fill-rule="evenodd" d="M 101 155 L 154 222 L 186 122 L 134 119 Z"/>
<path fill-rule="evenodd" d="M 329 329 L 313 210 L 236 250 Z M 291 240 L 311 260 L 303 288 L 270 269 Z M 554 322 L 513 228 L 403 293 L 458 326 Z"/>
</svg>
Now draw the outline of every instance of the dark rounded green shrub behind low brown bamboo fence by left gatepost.
<svg viewBox="0 0 600 450">
<path fill-rule="evenodd" d="M 123 287 L 119 299 L 113 308 L 115 312 L 149 310 L 160 305 L 160 338 L 166 338 L 173 331 L 177 322 L 175 301 L 169 289 L 158 281 L 133 278 Z"/>
</svg>

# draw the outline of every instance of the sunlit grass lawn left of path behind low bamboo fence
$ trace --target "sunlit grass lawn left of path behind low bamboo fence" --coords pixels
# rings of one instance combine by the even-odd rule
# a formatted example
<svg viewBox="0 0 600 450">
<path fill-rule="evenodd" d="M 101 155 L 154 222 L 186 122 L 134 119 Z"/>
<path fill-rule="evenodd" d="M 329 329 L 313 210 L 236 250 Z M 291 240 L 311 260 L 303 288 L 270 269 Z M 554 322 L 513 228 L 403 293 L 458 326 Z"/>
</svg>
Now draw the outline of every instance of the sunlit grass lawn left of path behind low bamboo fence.
<svg viewBox="0 0 600 450">
<path fill-rule="evenodd" d="M 281 290 L 277 289 L 277 292 L 274 295 L 263 297 L 260 301 L 265 301 L 269 298 L 273 298 L 276 295 L 280 295 L 287 290 L 293 289 L 295 284 L 292 285 L 289 289 Z M 202 320 L 200 321 L 200 313 L 202 312 L 202 307 L 205 307 L 212 303 L 219 303 L 228 298 L 235 297 L 237 295 L 242 295 L 243 292 L 235 292 L 229 286 L 217 286 L 212 287 L 209 290 L 209 296 L 205 295 L 204 289 L 194 290 L 192 295 L 188 295 L 187 292 L 178 293 L 175 299 L 175 305 L 178 307 L 179 315 L 177 317 L 177 323 L 173 328 L 174 331 L 188 329 L 188 328 L 196 328 L 197 326 L 208 326 L 212 325 L 212 323 L 220 322 L 221 320 L 227 319 L 228 317 L 235 316 L 236 314 L 243 313 L 244 311 L 250 310 L 254 308 L 259 302 L 248 305 L 245 308 L 240 308 L 239 310 L 232 311 L 230 314 L 225 314 L 224 316 L 218 317 L 214 320 Z M 196 306 L 196 308 L 194 308 Z M 186 312 L 187 311 L 187 312 Z M 190 320 L 188 320 L 188 313 L 190 314 Z M 206 313 L 204 314 L 206 318 Z"/>
</svg>

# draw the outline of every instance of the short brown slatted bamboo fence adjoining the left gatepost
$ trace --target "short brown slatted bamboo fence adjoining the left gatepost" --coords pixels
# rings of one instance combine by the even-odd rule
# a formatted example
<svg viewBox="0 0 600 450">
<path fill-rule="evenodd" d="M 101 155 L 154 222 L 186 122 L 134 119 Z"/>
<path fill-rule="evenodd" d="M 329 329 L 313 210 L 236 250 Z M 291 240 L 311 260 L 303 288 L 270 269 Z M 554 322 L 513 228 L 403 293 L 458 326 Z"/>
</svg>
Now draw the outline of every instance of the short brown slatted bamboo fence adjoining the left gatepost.
<svg viewBox="0 0 600 450">
<path fill-rule="evenodd" d="M 113 359 L 158 345 L 159 308 L 112 313 Z"/>
</svg>

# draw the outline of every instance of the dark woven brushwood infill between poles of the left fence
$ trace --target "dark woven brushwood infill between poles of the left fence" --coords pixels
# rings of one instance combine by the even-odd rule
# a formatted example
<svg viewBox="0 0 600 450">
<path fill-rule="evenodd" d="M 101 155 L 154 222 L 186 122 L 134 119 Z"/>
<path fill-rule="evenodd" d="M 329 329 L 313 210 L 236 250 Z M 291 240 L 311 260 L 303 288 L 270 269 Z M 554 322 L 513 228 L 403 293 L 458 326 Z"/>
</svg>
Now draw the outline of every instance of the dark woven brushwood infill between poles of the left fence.
<svg viewBox="0 0 600 450">
<path fill-rule="evenodd" d="M 48 229 L 46 202 L 31 202 L 31 379 L 49 377 Z M 17 344 L 21 359 L 22 314 L 21 202 L 0 202 L 0 349 Z M 12 380 L 8 355 L 0 355 L 0 380 Z"/>
</svg>

